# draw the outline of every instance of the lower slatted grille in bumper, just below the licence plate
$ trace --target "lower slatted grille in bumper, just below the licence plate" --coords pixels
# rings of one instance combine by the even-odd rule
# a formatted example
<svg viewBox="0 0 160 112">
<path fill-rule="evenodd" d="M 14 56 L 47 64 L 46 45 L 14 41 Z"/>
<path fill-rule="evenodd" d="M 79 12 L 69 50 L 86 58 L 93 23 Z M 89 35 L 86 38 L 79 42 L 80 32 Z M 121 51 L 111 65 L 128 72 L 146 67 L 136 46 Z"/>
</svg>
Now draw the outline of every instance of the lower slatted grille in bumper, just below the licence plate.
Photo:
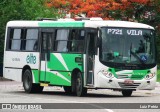
<svg viewBox="0 0 160 112">
<path fill-rule="evenodd" d="M 121 88 L 125 89 L 136 89 L 141 83 L 134 83 L 134 84 L 124 84 L 123 82 L 118 83 Z"/>
</svg>

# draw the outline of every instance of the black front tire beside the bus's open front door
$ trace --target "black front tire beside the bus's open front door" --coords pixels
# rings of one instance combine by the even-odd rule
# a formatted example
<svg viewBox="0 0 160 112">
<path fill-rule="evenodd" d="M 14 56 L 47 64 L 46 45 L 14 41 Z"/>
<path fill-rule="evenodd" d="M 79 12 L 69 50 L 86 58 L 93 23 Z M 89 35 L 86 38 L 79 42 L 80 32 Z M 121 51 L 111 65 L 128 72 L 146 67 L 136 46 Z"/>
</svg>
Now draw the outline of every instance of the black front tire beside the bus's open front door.
<svg viewBox="0 0 160 112">
<path fill-rule="evenodd" d="M 76 95 L 80 97 L 86 94 L 87 94 L 87 88 L 83 87 L 83 78 L 81 72 L 78 72 L 76 76 Z"/>
</svg>

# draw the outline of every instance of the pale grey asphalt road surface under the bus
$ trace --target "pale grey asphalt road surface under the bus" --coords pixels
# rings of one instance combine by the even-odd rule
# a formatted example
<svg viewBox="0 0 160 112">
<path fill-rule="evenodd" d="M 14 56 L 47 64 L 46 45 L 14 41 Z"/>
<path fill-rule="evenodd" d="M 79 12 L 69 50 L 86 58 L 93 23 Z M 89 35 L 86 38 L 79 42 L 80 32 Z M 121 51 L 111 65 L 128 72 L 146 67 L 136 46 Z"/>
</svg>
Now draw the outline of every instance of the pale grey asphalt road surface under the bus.
<svg viewBox="0 0 160 112">
<path fill-rule="evenodd" d="M 66 94 L 61 87 L 45 87 L 44 91 L 39 94 L 27 94 L 24 92 L 22 83 L 14 81 L 0 81 L 0 103 L 59 103 L 59 106 L 66 105 L 68 103 L 75 108 L 76 103 L 81 103 L 83 107 L 84 103 L 86 105 L 92 106 L 96 109 L 47 109 L 47 110 L 23 110 L 23 112 L 160 112 L 160 109 L 116 109 L 117 104 L 114 103 L 126 103 L 120 106 L 125 106 L 126 108 L 130 107 L 130 103 L 143 104 L 147 103 L 160 103 L 160 84 L 157 83 L 156 89 L 149 90 L 138 90 L 133 92 L 131 97 L 123 97 L 122 94 L 118 91 L 112 90 L 88 90 L 88 95 L 85 97 L 77 97 L 74 95 Z M 104 108 L 97 104 L 92 103 L 106 103 L 110 104 L 115 109 Z M 111 104 L 113 103 L 113 104 Z M 84 105 L 84 107 L 86 106 Z M 143 105 L 140 105 L 142 107 Z M 160 108 L 160 107 L 159 107 Z M 1 109 L 0 112 L 21 112 L 22 110 L 6 110 Z"/>
</svg>

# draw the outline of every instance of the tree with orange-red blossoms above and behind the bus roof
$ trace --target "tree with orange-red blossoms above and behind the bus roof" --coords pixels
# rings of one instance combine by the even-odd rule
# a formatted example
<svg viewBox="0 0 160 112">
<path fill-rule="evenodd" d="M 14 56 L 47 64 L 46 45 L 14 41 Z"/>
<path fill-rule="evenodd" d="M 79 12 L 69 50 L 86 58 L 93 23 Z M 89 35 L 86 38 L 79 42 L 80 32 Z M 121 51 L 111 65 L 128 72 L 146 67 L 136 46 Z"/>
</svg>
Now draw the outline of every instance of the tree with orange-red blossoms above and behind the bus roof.
<svg viewBox="0 0 160 112">
<path fill-rule="evenodd" d="M 150 0 L 47 0 L 46 4 L 58 8 L 59 12 L 70 12 L 72 17 L 85 14 L 86 17 L 124 19 L 138 14 L 149 2 Z"/>
</svg>

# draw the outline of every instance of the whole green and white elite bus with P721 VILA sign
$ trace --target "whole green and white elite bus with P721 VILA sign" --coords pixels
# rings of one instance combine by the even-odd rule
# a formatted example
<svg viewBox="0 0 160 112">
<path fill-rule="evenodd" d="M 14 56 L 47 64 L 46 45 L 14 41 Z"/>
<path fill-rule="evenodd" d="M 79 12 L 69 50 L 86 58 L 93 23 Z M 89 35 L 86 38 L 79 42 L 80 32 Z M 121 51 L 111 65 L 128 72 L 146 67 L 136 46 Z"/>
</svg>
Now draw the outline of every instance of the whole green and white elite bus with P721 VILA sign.
<svg viewBox="0 0 160 112">
<path fill-rule="evenodd" d="M 156 85 L 154 28 L 127 21 L 72 19 L 10 21 L 4 77 L 23 82 L 27 93 L 61 86 L 82 96 L 112 89 L 131 96 Z"/>
</svg>

